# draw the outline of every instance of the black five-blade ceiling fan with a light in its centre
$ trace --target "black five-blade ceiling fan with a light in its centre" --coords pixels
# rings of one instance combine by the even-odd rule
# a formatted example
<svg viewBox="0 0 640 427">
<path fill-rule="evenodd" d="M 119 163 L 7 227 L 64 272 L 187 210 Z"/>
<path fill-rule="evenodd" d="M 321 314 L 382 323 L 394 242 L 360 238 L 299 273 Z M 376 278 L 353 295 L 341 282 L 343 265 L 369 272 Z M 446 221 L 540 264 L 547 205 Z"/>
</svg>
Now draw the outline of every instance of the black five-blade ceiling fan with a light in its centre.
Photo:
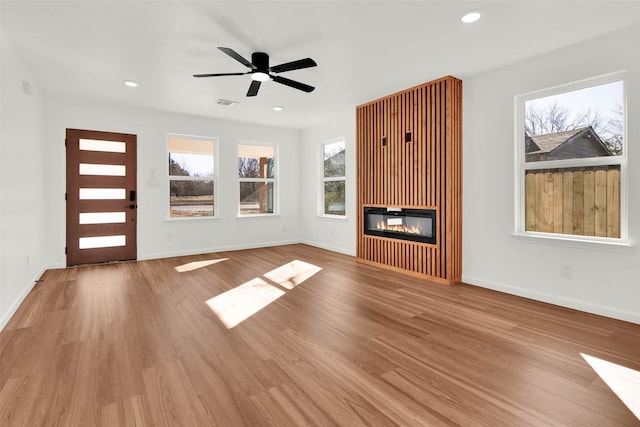
<svg viewBox="0 0 640 427">
<path fill-rule="evenodd" d="M 281 77 L 272 73 L 283 73 L 285 71 L 300 70 L 302 68 L 315 67 L 316 61 L 311 58 L 299 59 L 297 61 L 291 61 L 280 65 L 269 66 L 269 55 L 264 52 L 254 52 L 251 54 L 251 62 L 244 59 L 235 50 L 228 47 L 218 47 L 221 51 L 241 63 L 242 65 L 249 67 L 250 70 L 246 73 L 216 73 L 216 74 L 194 74 L 193 77 L 218 77 L 218 76 L 242 76 L 244 74 L 251 74 L 251 86 L 247 96 L 256 96 L 260 89 L 260 84 L 267 80 L 273 80 L 276 83 L 283 84 L 285 86 L 292 87 L 304 92 L 313 92 L 315 87 L 309 86 L 304 83 L 297 82 L 295 80 Z"/>
</svg>

